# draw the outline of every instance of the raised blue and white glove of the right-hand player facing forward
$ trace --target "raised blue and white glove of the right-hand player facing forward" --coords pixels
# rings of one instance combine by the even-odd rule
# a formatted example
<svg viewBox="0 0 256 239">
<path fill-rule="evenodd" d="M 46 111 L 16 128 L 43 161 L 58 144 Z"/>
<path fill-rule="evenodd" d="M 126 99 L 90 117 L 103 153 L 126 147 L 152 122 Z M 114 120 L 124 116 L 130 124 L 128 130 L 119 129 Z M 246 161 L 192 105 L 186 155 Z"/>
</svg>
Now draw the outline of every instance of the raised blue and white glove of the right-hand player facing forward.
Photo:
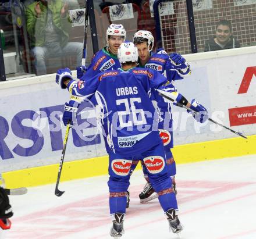
<svg viewBox="0 0 256 239">
<path fill-rule="evenodd" d="M 174 70 L 178 70 L 182 76 L 186 76 L 191 73 L 190 65 L 186 62 L 186 59 L 183 58 L 180 54 L 174 52 L 169 56 L 170 63 Z"/>
</svg>

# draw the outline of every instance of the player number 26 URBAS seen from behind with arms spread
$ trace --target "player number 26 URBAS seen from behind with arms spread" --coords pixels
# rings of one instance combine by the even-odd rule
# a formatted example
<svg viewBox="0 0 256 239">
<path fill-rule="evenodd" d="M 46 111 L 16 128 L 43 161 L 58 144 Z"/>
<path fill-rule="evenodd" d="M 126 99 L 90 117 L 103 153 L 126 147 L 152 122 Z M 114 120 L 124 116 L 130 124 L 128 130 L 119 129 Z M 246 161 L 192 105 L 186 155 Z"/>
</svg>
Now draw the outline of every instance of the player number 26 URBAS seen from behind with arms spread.
<svg viewBox="0 0 256 239">
<path fill-rule="evenodd" d="M 73 124 L 77 106 L 84 99 L 95 97 L 106 117 L 101 119 L 109 151 L 109 207 L 113 219 L 112 237 L 121 237 L 126 213 L 126 191 L 129 187 L 130 167 L 133 159 L 141 158 L 148 171 L 148 178 L 158 193 L 170 229 L 179 233 L 183 227 L 177 216 L 176 195 L 172 190 L 165 152 L 157 127 L 156 110 L 148 97 L 152 89 L 162 90 L 175 102 L 187 105 L 207 117 L 207 110 L 191 105 L 179 94 L 165 77 L 151 69 L 137 66 L 137 48 L 131 42 L 121 44 L 118 58 L 122 69 L 100 73 L 85 81 L 73 80 L 69 69 L 59 70 L 56 81 L 72 94 L 65 104 L 63 123 Z M 83 80 L 83 79 L 82 79 Z M 166 85 L 167 84 L 167 85 Z M 101 114 L 102 115 L 102 114 Z"/>
</svg>

